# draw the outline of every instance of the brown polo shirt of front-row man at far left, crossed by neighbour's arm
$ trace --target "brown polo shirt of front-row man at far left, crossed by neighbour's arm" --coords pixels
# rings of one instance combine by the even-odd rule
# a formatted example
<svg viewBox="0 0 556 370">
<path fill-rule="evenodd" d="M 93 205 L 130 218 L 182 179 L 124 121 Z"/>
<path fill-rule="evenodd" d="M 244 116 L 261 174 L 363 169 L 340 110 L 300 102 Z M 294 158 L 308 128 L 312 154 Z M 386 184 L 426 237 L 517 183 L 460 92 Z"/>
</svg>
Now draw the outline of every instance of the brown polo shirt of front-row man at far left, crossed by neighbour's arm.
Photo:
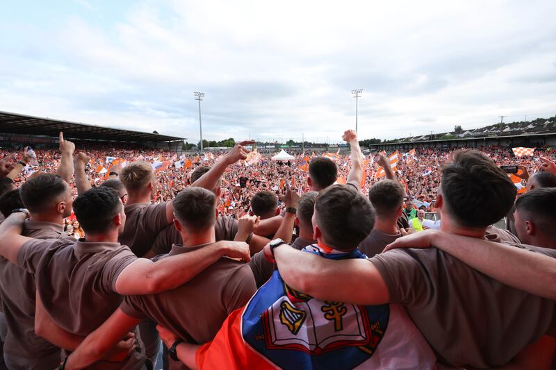
<svg viewBox="0 0 556 370">
<path fill-rule="evenodd" d="M 64 237 L 65 233 L 63 225 L 26 220 L 22 235 L 35 239 L 59 239 Z M 42 255 L 44 248 L 39 248 L 36 252 L 37 255 Z M 3 297 L 1 307 L 8 328 L 4 353 L 26 359 L 46 358 L 53 353 L 60 353 L 60 348 L 35 335 L 35 276 L 33 274 L 0 258 L 0 294 Z"/>
</svg>

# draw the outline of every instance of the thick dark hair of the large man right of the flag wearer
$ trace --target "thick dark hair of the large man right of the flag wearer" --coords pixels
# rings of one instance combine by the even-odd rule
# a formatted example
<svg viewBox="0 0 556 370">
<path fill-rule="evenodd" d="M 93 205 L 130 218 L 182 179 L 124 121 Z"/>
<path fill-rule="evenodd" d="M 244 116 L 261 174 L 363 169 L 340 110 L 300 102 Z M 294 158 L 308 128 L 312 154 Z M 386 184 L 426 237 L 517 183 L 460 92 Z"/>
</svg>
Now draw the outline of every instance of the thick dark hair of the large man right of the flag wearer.
<svg viewBox="0 0 556 370">
<path fill-rule="evenodd" d="M 507 215 L 517 189 L 506 172 L 480 151 L 455 151 L 440 185 L 446 210 L 459 226 L 486 228 Z"/>
</svg>

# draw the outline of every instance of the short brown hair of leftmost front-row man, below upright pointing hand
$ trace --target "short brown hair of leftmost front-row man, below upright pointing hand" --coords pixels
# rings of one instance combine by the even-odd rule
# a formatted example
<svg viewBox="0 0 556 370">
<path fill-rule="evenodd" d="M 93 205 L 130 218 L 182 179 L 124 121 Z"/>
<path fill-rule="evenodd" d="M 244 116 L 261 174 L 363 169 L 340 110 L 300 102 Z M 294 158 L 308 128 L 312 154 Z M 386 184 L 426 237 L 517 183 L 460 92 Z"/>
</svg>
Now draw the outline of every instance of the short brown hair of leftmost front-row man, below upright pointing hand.
<svg viewBox="0 0 556 370">
<path fill-rule="evenodd" d="M 32 213 L 45 212 L 63 196 L 69 186 L 56 174 L 40 174 L 29 178 L 19 187 L 25 208 Z"/>
</svg>

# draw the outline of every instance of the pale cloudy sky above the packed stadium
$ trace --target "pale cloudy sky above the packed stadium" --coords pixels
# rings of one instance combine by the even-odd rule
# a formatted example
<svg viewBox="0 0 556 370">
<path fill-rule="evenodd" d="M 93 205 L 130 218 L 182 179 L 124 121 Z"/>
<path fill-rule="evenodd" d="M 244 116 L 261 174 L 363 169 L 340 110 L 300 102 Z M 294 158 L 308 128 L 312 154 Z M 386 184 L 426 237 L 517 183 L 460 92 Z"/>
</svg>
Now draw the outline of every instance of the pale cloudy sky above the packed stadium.
<svg viewBox="0 0 556 370">
<path fill-rule="evenodd" d="M 12 1 L 0 110 L 199 140 L 556 114 L 556 1 Z"/>
</svg>

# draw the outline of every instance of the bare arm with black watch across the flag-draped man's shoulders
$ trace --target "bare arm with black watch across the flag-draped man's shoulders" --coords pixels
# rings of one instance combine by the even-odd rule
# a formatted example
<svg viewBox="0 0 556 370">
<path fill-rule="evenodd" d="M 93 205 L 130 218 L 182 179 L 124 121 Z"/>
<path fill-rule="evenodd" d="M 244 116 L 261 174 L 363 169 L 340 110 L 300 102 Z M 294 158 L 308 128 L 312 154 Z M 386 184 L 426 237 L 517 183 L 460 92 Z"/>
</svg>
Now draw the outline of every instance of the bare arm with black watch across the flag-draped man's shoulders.
<svg viewBox="0 0 556 370">
<path fill-rule="evenodd" d="M 287 244 L 276 247 L 274 255 L 281 277 L 300 292 L 322 301 L 388 303 L 386 283 L 375 265 L 366 259 L 327 260 Z"/>
</svg>

